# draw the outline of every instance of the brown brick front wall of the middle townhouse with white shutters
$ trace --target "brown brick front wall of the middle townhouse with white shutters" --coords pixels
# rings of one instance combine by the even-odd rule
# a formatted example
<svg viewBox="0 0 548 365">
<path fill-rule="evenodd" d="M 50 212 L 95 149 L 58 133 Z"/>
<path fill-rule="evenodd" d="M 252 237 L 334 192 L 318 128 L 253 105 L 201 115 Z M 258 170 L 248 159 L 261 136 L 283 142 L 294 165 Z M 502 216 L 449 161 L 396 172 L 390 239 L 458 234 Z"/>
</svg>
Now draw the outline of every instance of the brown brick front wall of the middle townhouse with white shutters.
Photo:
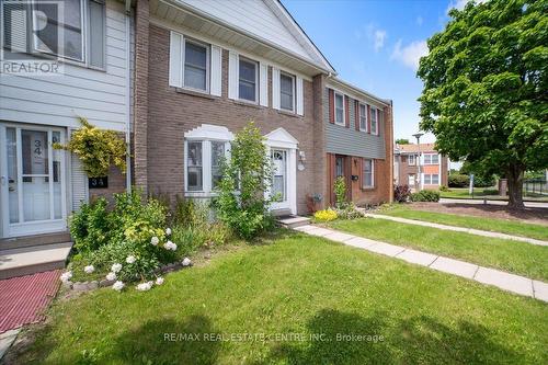
<svg viewBox="0 0 548 365">
<path fill-rule="evenodd" d="M 305 115 L 297 116 L 272 107 L 247 105 L 228 99 L 228 52 L 222 53 L 222 94 L 220 98 L 191 94 L 169 87 L 169 31 L 156 25 L 149 30 L 148 115 L 147 115 L 147 180 L 149 194 L 183 194 L 184 191 L 184 133 L 202 124 L 222 125 L 237 132 L 255 121 L 263 134 L 278 127 L 285 128 L 299 141 L 306 153 L 306 169 L 297 171 L 297 210 L 306 213 L 306 195 L 321 189 L 318 184 L 321 164 L 315 146 L 321 137 L 316 128 L 318 104 L 312 95 L 320 92 L 322 80 L 304 81 Z M 272 69 L 269 69 L 269 98 L 272 105 Z M 137 121 L 139 123 L 139 121 Z M 136 129 L 137 132 L 137 129 Z M 137 140 L 136 148 L 142 147 Z M 137 155 L 137 153 L 136 153 Z M 142 156 L 142 155 L 141 155 Z M 321 156 L 321 155 L 320 155 Z M 139 166 L 136 163 L 136 170 Z M 138 171 L 136 171 L 138 173 Z M 136 178 L 137 180 L 137 178 Z"/>
</svg>

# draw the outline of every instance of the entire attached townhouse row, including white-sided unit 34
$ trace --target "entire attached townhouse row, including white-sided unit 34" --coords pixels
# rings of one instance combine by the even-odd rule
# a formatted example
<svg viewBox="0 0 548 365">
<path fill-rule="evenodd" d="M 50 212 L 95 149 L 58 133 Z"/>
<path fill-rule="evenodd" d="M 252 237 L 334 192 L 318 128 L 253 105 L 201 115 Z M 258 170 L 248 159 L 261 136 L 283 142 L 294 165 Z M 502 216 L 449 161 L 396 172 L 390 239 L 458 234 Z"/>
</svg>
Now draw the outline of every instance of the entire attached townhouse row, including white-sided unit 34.
<svg viewBox="0 0 548 365">
<path fill-rule="evenodd" d="M 67 3 L 69 23 L 48 12 L 30 44 L 37 18 L 14 15 L 30 8 L 2 11 L 1 56 L 53 59 L 62 72 L 0 75 L 0 249 L 67 242 L 82 202 L 132 185 L 210 198 L 219 157 L 251 119 L 275 166 L 277 213 L 306 214 L 316 194 L 332 204 L 339 175 L 357 204 L 391 199 L 391 102 L 338 79 L 279 1 Z M 52 48 L 56 32 L 65 44 Z M 77 116 L 128 141 L 126 175 L 113 168 L 96 185 L 78 157 L 52 148 Z"/>
</svg>

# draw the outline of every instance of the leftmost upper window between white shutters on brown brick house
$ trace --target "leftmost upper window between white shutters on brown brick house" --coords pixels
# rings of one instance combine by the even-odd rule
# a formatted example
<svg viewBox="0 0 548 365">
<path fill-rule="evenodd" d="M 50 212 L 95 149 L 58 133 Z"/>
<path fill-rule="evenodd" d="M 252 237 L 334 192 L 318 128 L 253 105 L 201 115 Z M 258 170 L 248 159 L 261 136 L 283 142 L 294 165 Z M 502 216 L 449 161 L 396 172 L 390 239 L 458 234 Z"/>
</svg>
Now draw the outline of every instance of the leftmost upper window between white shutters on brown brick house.
<svg viewBox="0 0 548 365">
<path fill-rule="evenodd" d="M 184 41 L 184 72 L 185 88 L 207 91 L 209 47 L 191 39 Z"/>
</svg>

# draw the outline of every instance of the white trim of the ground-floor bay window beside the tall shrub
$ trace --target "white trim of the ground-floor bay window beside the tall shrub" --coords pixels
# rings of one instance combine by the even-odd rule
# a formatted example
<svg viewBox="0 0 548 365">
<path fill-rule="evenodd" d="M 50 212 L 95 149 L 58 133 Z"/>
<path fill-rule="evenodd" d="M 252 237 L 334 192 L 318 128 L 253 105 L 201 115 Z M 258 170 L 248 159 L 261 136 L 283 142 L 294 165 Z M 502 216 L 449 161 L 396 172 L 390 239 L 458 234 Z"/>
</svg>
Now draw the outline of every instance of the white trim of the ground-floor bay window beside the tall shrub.
<svg viewBox="0 0 548 365">
<path fill-rule="evenodd" d="M 184 196 L 210 197 L 216 193 L 213 190 L 212 174 L 212 141 L 225 142 L 225 157 L 230 156 L 230 141 L 233 134 L 227 127 L 203 124 L 198 128 L 184 134 Z M 189 190 L 189 141 L 202 141 L 202 190 Z"/>
</svg>

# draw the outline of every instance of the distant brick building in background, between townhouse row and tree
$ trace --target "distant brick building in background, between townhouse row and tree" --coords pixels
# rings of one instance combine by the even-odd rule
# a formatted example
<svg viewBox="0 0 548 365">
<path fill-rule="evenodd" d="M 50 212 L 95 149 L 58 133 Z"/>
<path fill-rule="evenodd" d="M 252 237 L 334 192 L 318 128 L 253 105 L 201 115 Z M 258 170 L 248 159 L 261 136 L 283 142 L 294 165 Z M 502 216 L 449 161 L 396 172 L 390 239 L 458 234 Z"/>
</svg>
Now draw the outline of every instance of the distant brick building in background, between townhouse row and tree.
<svg viewBox="0 0 548 365">
<path fill-rule="evenodd" d="M 395 145 L 393 153 L 396 185 L 407 184 L 413 191 L 447 186 L 449 160 L 434 149 L 434 144 Z"/>
</svg>

